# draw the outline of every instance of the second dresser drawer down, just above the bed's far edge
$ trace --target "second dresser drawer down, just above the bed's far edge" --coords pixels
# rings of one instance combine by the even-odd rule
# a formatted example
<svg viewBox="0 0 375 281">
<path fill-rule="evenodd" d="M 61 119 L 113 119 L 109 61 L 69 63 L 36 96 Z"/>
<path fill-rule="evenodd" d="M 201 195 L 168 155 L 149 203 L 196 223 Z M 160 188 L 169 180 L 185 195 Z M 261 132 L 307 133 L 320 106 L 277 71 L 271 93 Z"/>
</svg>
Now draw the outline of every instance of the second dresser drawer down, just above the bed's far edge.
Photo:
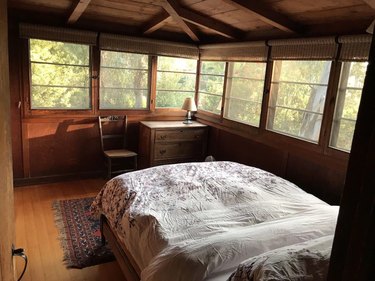
<svg viewBox="0 0 375 281">
<path fill-rule="evenodd" d="M 154 160 L 195 157 L 202 154 L 202 142 L 155 143 Z"/>
</svg>

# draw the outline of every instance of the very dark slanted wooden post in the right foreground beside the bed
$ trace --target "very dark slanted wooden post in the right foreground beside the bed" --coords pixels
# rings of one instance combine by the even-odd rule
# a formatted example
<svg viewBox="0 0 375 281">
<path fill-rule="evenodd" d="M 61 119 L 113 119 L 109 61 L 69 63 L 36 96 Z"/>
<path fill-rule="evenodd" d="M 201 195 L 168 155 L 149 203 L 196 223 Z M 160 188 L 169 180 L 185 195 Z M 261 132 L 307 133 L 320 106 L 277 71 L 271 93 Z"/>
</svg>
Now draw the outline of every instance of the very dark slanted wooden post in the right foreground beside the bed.
<svg viewBox="0 0 375 281">
<path fill-rule="evenodd" d="M 375 274 L 374 77 L 373 37 L 332 246 L 329 281 L 372 280 Z"/>
</svg>

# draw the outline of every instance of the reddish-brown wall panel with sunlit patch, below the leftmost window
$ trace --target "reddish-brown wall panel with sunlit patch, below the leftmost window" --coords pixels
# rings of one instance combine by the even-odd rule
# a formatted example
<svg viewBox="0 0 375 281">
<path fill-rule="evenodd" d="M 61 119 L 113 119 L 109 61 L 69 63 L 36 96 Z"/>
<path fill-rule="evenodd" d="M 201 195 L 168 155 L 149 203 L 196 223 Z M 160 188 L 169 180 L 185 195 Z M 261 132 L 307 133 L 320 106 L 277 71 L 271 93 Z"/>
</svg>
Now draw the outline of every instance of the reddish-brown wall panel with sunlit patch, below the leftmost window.
<svg viewBox="0 0 375 281">
<path fill-rule="evenodd" d="M 27 122 L 31 177 L 103 169 L 96 118 Z"/>
</svg>

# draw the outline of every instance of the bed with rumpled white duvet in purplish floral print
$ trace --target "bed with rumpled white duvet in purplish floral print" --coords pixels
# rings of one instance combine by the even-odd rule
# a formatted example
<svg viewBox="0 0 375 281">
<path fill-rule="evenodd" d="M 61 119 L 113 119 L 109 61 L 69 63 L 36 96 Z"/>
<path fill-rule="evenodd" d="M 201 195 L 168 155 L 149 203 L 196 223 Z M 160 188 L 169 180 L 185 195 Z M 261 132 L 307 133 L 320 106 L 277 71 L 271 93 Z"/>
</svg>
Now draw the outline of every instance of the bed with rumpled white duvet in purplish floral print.
<svg viewBox="0 0 375 281">
<path fill-rule="evenodd" d="M 338 214 L 280 177 L 227 161 L 120 175 L 92 208 L 128 281 L 258 280 L 246 279 L 262 265 L 251 259 L 315 247 L 309 241 L 332 236 Z"/>
</svg>

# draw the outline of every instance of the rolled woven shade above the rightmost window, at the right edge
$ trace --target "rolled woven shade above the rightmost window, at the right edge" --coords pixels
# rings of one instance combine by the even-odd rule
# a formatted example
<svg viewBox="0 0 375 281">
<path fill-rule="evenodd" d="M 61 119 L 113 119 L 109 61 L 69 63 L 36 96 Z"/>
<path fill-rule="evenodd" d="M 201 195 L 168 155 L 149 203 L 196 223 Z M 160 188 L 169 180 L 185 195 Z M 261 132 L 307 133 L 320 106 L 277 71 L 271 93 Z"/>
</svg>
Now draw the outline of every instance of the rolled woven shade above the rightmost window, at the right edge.
<svg viewBox="0 0 375 281">
<path fill-rule="evenodd" d="M 340 61 L 367 61 L 371 46 L 370 34 L 340 36 Z"/>
</svg>

